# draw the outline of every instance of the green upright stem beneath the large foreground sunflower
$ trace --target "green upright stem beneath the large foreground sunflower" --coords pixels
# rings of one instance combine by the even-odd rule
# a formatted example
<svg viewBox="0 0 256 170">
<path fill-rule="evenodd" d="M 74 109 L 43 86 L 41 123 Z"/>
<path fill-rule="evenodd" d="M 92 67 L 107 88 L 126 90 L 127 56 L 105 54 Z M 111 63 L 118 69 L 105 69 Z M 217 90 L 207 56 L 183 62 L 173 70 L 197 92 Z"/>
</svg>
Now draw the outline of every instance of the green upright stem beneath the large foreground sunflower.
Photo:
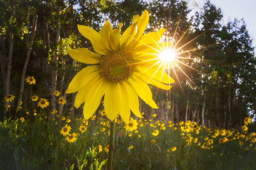
<svg viewBox="0 0 256 170">
<path fill-rule="evenodd" d="M 113 150 L 114 150 L 114 136 L 115 136 L 115 120 L 111 121 L 111 124 L 110 124 L 110 144 L 109 144 L 107 170 L 111 170 L 111 167 L 112 167 Z"/>
</svg>

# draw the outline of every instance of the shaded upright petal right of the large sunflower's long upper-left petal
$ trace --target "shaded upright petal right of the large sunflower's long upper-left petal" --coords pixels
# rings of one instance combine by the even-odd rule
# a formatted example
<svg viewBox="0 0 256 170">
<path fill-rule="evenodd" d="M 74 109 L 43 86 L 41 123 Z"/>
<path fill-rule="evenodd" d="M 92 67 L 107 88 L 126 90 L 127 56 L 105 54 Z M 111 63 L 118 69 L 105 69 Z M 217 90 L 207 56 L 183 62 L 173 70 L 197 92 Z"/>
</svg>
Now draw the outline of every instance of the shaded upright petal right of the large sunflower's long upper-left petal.
<svg viewBox="0 0 256 170">
<path fill-rule="evenodd" d="M 104 44 L 107 46 L 107 48 L 112 51 L 112 48 L 110 46 L 110 34 L 112 32 L 112 27 L 110 25 L 109 21 L 106 21 L 104 26 L 101 28 L 100 35 L 101 40 L 104 42 Z"/>
</svg>

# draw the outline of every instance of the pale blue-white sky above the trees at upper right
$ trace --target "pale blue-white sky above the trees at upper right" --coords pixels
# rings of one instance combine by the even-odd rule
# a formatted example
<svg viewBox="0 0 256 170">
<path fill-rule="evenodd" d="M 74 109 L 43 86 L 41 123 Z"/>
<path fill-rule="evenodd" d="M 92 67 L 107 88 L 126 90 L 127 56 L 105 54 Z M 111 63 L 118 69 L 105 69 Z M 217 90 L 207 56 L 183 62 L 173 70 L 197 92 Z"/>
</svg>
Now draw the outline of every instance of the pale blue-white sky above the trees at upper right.
<svg viewBox="0 0 256 170">
<path fill-rule="evenodd" d="M 188 0 L 193 6 L 196 2 L 199 7 L 204 5 L 205 0 Z M 210 0 L 223 14 L 223 24 L 244 18 L 248 33 L 253 39 L 253 46 L 256 47 L 256 0 Z"/>
</svg>

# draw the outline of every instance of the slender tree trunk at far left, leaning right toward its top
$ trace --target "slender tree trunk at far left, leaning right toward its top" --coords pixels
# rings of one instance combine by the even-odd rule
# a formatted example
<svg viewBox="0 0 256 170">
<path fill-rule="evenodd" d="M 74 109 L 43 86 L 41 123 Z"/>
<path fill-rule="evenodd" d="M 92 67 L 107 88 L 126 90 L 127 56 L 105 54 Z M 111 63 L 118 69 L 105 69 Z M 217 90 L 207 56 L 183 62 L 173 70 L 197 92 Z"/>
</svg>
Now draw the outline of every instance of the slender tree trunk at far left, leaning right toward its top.
<svg viewBox="0 0 256 170">
<path fill-rule="evenodd" d="M 26 71 L 27 71 L 27 65 L 28 65 L 28 61 L 29 61 L 29 58 L 30 58 L 30 52 L 31 52 L 31 49 L 32 49 L 33 41 L 34 41 L 35 32 L 37 30 L 37 18 L 38 18 L 38 15 L 35 14 L 34 19 L 33 19 L 32 33 L 31 33 L 30 41 L 28 43 L 28 48 L 27 48 L 27 56 L 26 56 L 25 64 L 24 64 L 24 67 L 23 67 L 22 75 L 21 75 L 21 84 L 20 84 L 20 92 L 19 92 L 19 96 L 18 96 L 18 102 L 22 101 L 22 96 L 23 96 L 23 92 L 24 92 L 25 76 L 26 76 Z M 18 109 L 18 106 L 19 105 L 17 105 L 17 109 Z"/>
</svg>

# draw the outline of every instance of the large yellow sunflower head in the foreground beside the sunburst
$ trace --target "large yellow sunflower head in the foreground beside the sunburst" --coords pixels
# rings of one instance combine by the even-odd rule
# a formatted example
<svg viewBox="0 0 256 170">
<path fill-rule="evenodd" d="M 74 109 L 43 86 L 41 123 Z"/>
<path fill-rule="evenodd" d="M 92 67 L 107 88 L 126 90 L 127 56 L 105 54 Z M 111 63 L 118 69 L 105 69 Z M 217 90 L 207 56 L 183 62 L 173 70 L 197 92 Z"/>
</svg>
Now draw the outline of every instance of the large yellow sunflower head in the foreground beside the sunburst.
<svg viewBox="0 0 256 170">
<path fill-rule="evenodd" d="M 158 108 L 152 99 L 148 84 L 169 90 L 174 80 L 156 64 L 155 50 L 165 29 L 144 34 L 149 15 L 145 12 L 133 17 L 133 24 L 120 35 L 119 29 L 112 29 L 106 21 L 100 33 L 90 27 L 78 25 L 79 32 L 91 41 L 94 51 L 87 48 L 71 49 L 68 54 L 76 61 L 93 64 L 83 68 L 74 76 L 66 93 L 75 93 L 76 108 L 84 102 L 83 115 L 89 119 L 101 103 L 104 95 L 104 109 L 112 121 L 118 113 L 124 122 L 129 122 L 130 110 L 139 118 L 138 96 L 153 108 Z M 163 84 L 165 83 L 165 84 Z"/>
</svg>

